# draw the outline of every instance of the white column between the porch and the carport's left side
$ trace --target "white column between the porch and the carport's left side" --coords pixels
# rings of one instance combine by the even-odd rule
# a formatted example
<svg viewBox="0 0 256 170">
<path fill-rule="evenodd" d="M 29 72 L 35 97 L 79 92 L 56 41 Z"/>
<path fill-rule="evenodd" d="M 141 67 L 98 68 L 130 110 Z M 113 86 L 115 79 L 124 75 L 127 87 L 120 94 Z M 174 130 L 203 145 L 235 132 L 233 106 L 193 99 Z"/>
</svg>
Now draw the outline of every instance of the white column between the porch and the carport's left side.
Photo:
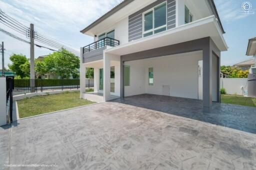
<svg viewBox="0 0 256 170">
<path fill-rule="evenodd" d="M 103 99 L 110 98 L 110 57 L 103 51 Z"/>
</svg>

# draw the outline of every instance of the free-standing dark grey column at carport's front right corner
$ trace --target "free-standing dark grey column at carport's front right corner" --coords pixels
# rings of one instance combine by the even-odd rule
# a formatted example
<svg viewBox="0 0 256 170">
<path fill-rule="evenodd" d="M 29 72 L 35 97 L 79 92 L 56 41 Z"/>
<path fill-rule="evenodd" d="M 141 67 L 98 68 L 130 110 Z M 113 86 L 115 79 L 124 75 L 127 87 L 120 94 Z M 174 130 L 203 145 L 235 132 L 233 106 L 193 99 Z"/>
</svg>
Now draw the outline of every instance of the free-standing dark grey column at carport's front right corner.
<svg viewBox="0 0 256 170">
<path fill-rule="evenodd" d="M 212 99 L 212 51 L 210 43 L 202 51 L 202 99 L 203 99 L 203 112 L 211 112 Z"/>
</svg>

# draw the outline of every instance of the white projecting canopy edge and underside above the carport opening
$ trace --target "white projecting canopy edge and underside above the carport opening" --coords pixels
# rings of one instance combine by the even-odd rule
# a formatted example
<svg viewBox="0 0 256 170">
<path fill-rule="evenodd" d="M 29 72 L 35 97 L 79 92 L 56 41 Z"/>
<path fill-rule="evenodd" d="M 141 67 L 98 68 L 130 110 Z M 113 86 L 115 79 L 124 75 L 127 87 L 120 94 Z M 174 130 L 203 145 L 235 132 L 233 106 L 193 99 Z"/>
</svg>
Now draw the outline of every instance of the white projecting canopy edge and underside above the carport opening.
<svg viewBox="0 0 256 170">
<path fill-rule="evenodd" d="M 104 51 L 116 55 L 125 55 L 207 36 L 211 37 L 220 51 L 227 50 L 228 47 L 217 24 L 217 20 L 214 15 L 212 15 L 164 32 L 111 47 Z"/>
</svg>

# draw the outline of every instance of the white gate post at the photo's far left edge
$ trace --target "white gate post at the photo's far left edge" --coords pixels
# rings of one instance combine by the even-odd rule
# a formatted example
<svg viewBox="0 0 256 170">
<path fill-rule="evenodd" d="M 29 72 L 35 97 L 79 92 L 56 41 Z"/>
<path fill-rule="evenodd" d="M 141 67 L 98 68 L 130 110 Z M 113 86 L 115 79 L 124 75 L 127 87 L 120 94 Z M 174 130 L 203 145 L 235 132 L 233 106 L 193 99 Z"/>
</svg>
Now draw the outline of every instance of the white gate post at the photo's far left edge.
<svg viewBox="0 0 256 170">
<path fill-rule="evenodd" d="M 6 124 L 6 78 L 0 77 L 0 126 Z"/>
</svg>

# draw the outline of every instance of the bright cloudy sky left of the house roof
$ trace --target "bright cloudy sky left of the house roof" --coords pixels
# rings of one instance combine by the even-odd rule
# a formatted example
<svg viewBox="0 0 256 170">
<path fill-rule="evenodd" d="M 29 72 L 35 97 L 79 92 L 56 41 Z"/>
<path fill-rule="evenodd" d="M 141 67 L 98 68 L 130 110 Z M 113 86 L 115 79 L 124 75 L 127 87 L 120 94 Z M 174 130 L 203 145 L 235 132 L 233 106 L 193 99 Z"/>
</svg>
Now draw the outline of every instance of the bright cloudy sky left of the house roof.
<svg viewBox="0 0 256 170">
<path fill-rule="evenodd" d="M 69 46 L 86 45 L 89 37 L 79 31 L 106 13 L 122 0 L 0 0 L 0 9 L 21 23 Z M 0 27 L 24 39 L 24 35 L 0 23 Z M 71 38 L 70 38 L 71 37 Z M 29 57 L 29 45 L 0 32 L 6 52 L 23 53 Z M 27 39 L 28 40 L 28 39 Z M 46 46 L 46 45 L 45 45 Z M 35 47 L 35 55 L 50 51 Z M 7 55 L 8 56 L 8 55 Z M 5 59 L 9 62 L 8 59 Z M 6 65 L 6 63 L 5 63 Z"/>
</svg>

